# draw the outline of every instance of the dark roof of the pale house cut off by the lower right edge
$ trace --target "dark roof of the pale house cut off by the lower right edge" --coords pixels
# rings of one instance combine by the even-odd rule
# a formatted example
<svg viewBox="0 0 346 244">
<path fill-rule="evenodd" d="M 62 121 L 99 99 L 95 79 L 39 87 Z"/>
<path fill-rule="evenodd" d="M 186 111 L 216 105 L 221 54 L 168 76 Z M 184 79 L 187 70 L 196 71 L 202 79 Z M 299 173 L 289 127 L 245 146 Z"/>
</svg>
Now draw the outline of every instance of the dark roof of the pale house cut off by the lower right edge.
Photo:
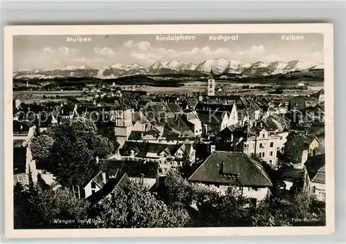
<svg viewBox="0 0 346 244">
<path fill-rule="evenodd" d="M 311 182 L 325 184 L 325 154 L 310 157 L 305 167 Z"/>
</svg>

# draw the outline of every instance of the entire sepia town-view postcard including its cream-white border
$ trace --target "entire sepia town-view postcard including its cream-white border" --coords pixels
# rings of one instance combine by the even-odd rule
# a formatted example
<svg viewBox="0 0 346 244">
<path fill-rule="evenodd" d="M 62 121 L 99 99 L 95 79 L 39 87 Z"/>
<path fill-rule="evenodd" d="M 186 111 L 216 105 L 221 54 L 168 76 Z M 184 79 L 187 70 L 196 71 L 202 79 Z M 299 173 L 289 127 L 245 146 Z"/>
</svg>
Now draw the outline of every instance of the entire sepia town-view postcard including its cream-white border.
<svg viewBox="0 0 346 244">
<path fill-rule="evenodd" d="M 7 27 L 8 236 L 334 232 L 331 25 L 124 27 Z"/>
</svg>

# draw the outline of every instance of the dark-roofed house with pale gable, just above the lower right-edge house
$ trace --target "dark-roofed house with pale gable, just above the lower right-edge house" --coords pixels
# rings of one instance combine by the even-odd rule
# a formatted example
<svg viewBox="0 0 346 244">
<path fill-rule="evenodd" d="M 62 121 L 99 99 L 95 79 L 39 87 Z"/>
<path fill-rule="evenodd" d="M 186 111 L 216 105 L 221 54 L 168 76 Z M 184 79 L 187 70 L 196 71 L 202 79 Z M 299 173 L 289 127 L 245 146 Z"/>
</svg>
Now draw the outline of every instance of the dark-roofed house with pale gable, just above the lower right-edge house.
<svg viewBox="0 0 346 244">
<path fill-rule="evenodd" d="M 301 168 L 308 157 L 320 154 L 323 146 L 315 134 L 294 134 L 284 146 L 284 156 Z"/>
</svg>

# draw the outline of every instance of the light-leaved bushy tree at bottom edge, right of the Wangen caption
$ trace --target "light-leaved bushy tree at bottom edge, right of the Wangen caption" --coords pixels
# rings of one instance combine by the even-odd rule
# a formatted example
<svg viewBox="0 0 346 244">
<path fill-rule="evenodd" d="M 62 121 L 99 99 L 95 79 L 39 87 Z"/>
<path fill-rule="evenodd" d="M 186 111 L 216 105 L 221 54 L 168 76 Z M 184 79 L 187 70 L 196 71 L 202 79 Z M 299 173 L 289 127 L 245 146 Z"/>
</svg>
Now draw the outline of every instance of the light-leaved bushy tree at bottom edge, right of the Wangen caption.
<svg viewBox="0 0 346 244">
<path fill-rule="evenodd" d="M 102 202 L 97 218 L 102 228 L 159 228 L 183 227 L 189 217 L 184 209 L 170 209 L 145 186 L 131 182 Z"/>
</svg>

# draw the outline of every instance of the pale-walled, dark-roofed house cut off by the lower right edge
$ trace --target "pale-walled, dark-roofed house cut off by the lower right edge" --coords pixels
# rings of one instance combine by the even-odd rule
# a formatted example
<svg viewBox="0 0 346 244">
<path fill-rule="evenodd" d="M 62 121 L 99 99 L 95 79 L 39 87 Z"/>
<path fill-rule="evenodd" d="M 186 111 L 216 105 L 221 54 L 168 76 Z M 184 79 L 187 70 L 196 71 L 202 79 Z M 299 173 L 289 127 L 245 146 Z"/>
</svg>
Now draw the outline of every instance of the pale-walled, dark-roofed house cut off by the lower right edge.
<svg viewBox="0 0 346 244">
<path fill-rule="evenodd" d="M 325 154 L 310 157 L 305 163 L 304 189 L 325 201 Z"/>
</svg>

